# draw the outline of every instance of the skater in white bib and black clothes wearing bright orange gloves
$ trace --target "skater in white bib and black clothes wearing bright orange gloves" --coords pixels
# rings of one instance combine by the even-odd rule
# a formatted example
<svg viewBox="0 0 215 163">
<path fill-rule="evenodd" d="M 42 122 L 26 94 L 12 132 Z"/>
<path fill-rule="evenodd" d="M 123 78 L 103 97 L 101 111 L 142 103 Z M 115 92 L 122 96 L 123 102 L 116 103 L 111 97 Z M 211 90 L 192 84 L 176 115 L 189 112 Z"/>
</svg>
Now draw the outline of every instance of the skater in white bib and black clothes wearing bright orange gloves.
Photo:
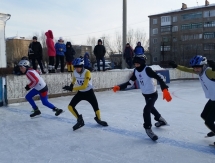
<svg viewBox="0 0 215 163">
<path fill-rule="evenodd" d="M 153 84 L 152 78 L 157 79 L 160 83 L 161 90 L 163 91 L 163 98 L 168 102 L 171 101 L 172 98 L 168 92 L 168 86 L 164 83 L 160 76 L 158 76 L 150 67 L 145 65 L 145 57 L 134 57 L 133 64 L 135 69 L 130 80 L 124 84 L 114 86 L 113 91 L 116 92 L 118 90 L 130 88 L 133 86 L 134 81 L 136 79 L 138 80 L 140 89 L 146 101 L 146 105 L 143 109 L 143 127 L 145 128 L 146 134 L 155 141 L 158 139 L 158 136 L 155 135 L 151 129 L 152 124 L 150 113 L 152 113 L 154 115 L 154 119 L 158 121 L 155 123 L 156 127 L 167 125 L 167 122 L 154 107 L 154 104 L 158 98 L 158 93 L 156 86 Z"/>
</svg>

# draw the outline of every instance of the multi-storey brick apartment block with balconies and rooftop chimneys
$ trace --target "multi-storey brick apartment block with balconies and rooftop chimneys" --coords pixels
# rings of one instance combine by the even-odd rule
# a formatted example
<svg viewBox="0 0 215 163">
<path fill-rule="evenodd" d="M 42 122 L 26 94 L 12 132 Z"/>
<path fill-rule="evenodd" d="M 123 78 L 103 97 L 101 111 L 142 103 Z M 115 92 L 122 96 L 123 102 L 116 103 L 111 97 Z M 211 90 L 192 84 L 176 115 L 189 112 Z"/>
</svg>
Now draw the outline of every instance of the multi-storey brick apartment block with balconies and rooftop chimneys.
<svg viewBox="0 0 215 163">
<path fill-rule="evenodd" d="M 215 60 L 215 4 L 187 7 L 150 15 L 152 63 L 167 66 L 169 60 L 189 65 L 194 55 Z"/>
</svg>

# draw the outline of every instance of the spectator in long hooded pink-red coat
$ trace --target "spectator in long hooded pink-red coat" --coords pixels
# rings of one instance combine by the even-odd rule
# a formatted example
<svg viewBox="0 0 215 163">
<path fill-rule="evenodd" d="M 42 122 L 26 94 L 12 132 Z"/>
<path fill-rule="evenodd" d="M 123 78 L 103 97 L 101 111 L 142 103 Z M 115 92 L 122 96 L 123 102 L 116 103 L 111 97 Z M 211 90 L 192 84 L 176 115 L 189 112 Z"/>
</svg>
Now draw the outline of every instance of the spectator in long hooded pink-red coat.
<svg viewBox="0 0 215 163">
<path fill-rule="evenodd" d="M 53 33 L 51 30 L 48 30 L 46 33 L 46 46 L 47 46 L 47 53 L 49 56 L 49 73 L 54 73 L 55 68 L 54 68 L 54 58 L 56 56 L 56 51 L 54 47 L 54 41 L 53 41 Z"/>
</svg>

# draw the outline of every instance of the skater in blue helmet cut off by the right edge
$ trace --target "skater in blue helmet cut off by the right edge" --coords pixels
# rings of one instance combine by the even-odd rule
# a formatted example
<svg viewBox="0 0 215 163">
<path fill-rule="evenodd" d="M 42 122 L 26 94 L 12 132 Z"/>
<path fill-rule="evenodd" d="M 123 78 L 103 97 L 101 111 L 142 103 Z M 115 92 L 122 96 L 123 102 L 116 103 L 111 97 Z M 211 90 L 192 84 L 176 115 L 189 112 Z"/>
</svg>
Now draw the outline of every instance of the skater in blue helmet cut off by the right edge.
<svg viewBox="0 0 215 163">
<path fill-rule="evenodd" d="M 170 61 L 169 65 L 178 70 L 195 73 L 199 75 L 199 81 L 208 100 L 206 103 L 201 117 L 205 121 L 205 125 L 212 131 L 207 134 L 208 137 L 215 136 L 215 63 L 211 60 L 208 61 L 210 67 L 206 66 L 207 58 L 201 55 L 194 56 L 190 60 L 192 68 L 177 65 L 175 61 Z"/>
</svg>

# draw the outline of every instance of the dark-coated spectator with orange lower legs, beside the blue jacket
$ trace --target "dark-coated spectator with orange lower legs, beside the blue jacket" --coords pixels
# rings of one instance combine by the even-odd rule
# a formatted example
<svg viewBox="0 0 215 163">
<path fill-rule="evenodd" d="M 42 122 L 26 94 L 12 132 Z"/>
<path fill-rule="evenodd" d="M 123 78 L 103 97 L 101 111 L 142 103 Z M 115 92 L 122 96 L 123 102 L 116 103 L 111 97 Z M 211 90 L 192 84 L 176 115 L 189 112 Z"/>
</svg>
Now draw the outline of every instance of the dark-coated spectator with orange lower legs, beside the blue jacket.
<svg viewBox="0 0 215 163">
<path fill-rule="evenodd" d="M 67 64 L 68 72 L 73 72 L 73 70 L 74 70 L 72 61 L 74 60 L 75 53 L 76 52 L 73 49 L 71 42 L 67 42 L 65 56 L 66 56 L 66 64 Z"/>
</svg>

